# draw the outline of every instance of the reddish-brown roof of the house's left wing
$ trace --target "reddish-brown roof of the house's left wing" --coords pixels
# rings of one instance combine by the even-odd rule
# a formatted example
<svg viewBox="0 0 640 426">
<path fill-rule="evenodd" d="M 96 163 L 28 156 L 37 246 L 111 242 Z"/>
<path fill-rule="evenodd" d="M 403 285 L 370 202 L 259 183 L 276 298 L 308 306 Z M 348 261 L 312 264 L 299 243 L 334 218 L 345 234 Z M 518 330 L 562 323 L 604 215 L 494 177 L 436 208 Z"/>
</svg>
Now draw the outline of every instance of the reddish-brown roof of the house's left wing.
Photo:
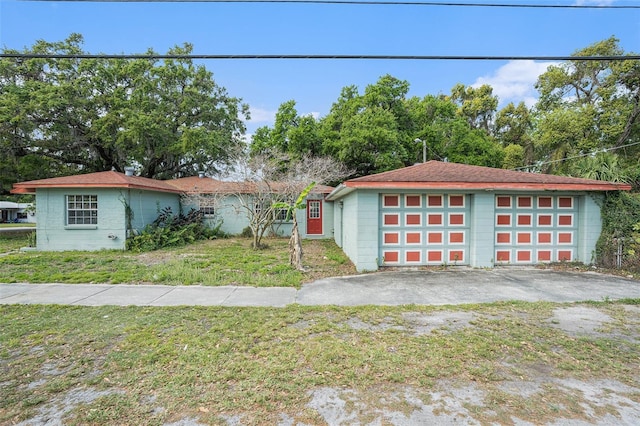
<svg viewBox="0 0 640 426">
<path fill-rule="evenodd" d="M 114 171 L 14 183 L 11 192 L 14 194 L 34 193 L 38 188 L 130 188 L 159 192 L 182 192 L 166 181 L 127 176 L 124 173 Z"/>
</svg>

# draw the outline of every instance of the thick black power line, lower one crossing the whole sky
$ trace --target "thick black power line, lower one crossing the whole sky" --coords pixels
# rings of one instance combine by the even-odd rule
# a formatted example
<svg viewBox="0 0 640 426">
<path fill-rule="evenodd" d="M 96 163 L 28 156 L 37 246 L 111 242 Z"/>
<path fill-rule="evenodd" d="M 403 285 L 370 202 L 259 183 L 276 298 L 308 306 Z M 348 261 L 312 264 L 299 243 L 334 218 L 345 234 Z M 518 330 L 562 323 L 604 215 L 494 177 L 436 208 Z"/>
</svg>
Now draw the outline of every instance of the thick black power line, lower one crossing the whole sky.
<svg viewBox="0 0 640 426">
<path fill-rule="evenodd" d="M 409 61 L 629 61 L 640 60 L 640 55 L 603 56 L 514 56 L 514 55 L 290 55 L 290 54 L 91 54 L 91 53 L 0 53 L 0 58 L 13 59 L 316 59 L 316 60 L 409 60 Z"/>
</svg>

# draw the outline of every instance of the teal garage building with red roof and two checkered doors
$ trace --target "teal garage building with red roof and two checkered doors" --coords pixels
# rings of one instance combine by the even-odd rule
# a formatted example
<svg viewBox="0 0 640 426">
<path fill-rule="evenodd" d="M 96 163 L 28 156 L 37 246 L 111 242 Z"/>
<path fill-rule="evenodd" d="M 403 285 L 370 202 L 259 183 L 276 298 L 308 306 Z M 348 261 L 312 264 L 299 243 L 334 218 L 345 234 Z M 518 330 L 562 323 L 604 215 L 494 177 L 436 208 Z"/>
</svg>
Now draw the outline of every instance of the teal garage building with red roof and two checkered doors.
<svg viewBox="0 0 640 426">
<path fill-rule="evenodd" d="M 598 202 L 630 185 L 429 161 L 348 180 L 327 200 L 359 271 L 593 260 Z"/>
</svg>

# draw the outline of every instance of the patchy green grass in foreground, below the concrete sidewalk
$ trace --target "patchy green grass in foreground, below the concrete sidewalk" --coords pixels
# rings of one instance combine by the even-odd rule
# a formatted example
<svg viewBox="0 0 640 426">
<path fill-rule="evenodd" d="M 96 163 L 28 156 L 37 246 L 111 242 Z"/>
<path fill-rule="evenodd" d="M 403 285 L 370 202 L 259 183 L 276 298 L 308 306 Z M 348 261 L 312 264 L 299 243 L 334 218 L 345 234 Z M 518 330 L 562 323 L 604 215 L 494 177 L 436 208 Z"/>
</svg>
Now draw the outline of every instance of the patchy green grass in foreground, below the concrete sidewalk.
<svg viewBox="0 0 640 426">
<path fill-rule="evenodd" d="M 640 314 L 622 303 L 590 305 L 620 322 L 608 337 L 573 337 L 549 321 L 563 306 L 0 306 L 0 424 L 31 418 L 74 389 L 111 393 L 72 407 L 68 424 L 225 424 L 234 415 L 276 424 L 282 414 L 323 424 L 307 406 L 311 390 L 350 389 L 370 404 L 392 404 L 404 389 L 428 395 L 441 381 L 486 393 L 485 407 L 471 407 L 483 424 L 584 420 L 582 396 L 552 383 L 530 396 L 500 387 L 542 374 L 637 387 L 640 344 L 616 333 L 637 336 Z M 407 316 L 438 312 L 473 320 L 416 333 L 424 322 Z M 372 420 L 367 410 L 361 416 L 361 424 Z"/>
</svg>

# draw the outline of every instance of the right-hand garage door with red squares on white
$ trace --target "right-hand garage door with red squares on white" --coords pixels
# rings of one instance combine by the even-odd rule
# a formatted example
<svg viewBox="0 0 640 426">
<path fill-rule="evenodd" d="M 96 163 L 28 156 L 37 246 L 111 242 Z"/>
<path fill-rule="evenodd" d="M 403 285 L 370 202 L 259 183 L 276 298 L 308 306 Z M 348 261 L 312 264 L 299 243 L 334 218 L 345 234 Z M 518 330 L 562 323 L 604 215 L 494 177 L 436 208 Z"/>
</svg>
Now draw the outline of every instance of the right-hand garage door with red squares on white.
<svg viewBox="0 0 640 426">
<path fill-rule="evenodd" d="M 578 208 L 572 196 L 496 195 L 495 263 L 571 261 Z"/>
</svg>

